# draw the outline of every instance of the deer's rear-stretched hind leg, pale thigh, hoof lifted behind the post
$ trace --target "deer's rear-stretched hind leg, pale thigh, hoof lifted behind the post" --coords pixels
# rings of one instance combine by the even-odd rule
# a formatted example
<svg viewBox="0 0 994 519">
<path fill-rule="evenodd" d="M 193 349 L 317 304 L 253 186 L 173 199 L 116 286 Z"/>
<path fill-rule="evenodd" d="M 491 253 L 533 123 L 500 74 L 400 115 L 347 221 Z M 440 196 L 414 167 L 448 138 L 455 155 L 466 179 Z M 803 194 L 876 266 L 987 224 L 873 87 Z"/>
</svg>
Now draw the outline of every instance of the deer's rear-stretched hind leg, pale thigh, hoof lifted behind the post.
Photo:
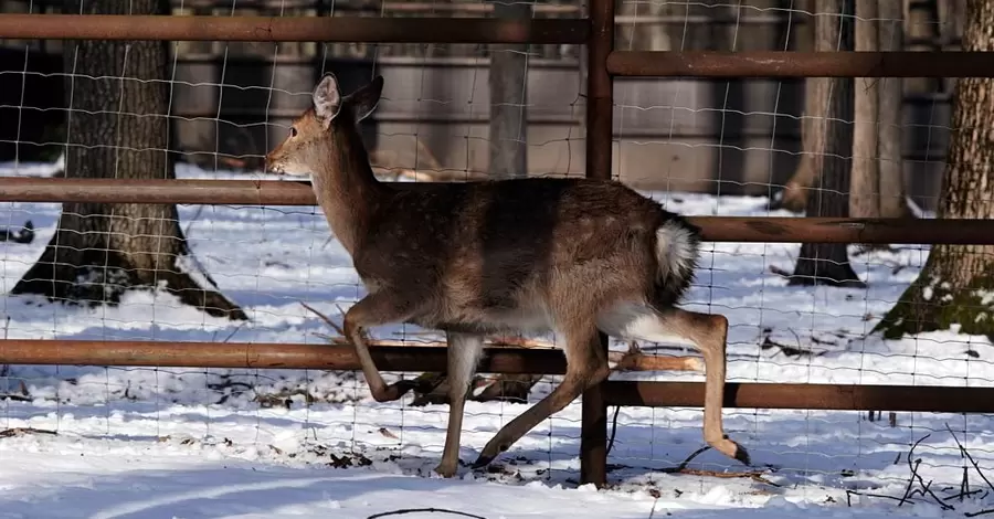
<svg viewBox="0 0 994 519">
<path fill-rule="evenodd" d="M 725 316 L 676 307 L 656 311 L 646 306 L 631 305 L 601 316 L 599 325 L 613 337 L 660 342 L 677 336 L 691 341 L 705 360 L 705 442 L 726 456 L 750 464 L 749 453 L 729 439 L 721 424 L 725 348 L 728 340 L 728 319 Z"/>
</svg>

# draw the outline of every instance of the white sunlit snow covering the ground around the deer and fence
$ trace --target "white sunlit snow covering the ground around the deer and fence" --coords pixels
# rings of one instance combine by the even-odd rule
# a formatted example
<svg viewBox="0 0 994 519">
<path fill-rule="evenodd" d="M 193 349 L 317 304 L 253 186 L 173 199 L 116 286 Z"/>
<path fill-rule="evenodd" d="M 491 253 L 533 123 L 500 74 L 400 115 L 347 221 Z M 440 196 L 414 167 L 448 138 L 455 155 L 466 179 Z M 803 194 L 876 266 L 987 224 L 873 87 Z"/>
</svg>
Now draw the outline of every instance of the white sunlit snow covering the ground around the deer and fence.
<svg viewBox="0 0 994 519">
<path fill-rule="evenodd" d="M 52 170 L 8 165 L 0 174 Z M 188 166 L 178 176 L 265 178 Z M 691 215 L 791 215 L 766 211 L 763 198 L 649 194 Z M 29 245 L 0 243 L 4 293 L 52 236 L 59 211 L 59 204 L 2 205 L 0 226 L 19 227 L 30 219 L 36 232 Z M 202 275 L 202 266 L 251 322 L 212 318 L 163 293 L 129 293 L 118 307 L 95 309 L 4 297 L 3 337 L 321 342 L 320 335 L 331 331 L 299 301 L 337 319 L 338 308 L 361 295 L 348 255 L 329 239 L 316 208 L 182 205 L 180 215 L 197 261 L 183 268 Z M 955 327 L 893 341 L 866 337 L 916 278 L 928 247 L 854 255 L 854 267 L 869 283 L 866 290 L 786 286 L 770 268 L 790 271 L 799 248 L 705 244 L 687 306 L 728 316 L 729 380 L 992 385 L 994 349 L 986 338 L 959 335 Z M 432 338 L 421 331 L 394 326 L 374 335 Z M 702 380 L 690 372 L 615 378 Z M 531 400 L 553 381 L 539 383 Z M 612 486 L 595 490 L 577 484 L 579 401 L 488 470 L 462 467 L 459 477 L 445 480 L 431 468 L 441 455 L 447 406 L 378 404 L 357 373 L 12 366 L 0 369 L 0 394 L 8 396 L 0 401 L 0 518 L 366 518 L 444 508 L 488 519 L 776 519 L 962 517 L 994 508 L 994 496 L 956 444 L 994 475 L 987 447 L 994 422 L 983 415 L 899 413 L 890 426 L 886 419 L 868 421 L 866 413 L 726 410 L 730 437 L 749 448 L 763 474 L 723 478 L 713 474 L 743 467 L 712 452 L 688 465 L 712 475 L 665 472 L 702 445 L 700 410 L 624 407 L 609 457 Z M 524 410 L 469 402 L 461 458 L 475 459 Z M 909 449 L 927 435 L 911 459 L 920 459 L 923 483 L 912 488 L 928 485 L 941 497 L 954 495 L 967 466 L 970 488 L 982 490 L 948 500 L 954 510 L 942 510 L 921 492 L 898 506 L 911 477 Z"/>
</svg>

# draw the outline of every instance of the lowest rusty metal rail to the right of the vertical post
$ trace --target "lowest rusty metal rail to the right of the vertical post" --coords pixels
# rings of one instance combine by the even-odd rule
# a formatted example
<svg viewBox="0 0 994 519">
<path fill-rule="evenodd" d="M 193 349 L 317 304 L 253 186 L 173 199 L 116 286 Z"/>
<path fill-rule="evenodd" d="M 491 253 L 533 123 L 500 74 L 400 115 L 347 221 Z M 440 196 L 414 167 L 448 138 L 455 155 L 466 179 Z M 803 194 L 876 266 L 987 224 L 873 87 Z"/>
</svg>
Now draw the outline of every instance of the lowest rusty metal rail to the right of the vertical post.
<svg viewBox="0 0 994 519">
<path fill-rule="evenodd" d="M 607 405 L 704 407 L 702 382 L 605 384 Z M 994 388 L 939 385 L 765 384 L 730 382 L 728 409 L 994 413 Z"/>
</svg>

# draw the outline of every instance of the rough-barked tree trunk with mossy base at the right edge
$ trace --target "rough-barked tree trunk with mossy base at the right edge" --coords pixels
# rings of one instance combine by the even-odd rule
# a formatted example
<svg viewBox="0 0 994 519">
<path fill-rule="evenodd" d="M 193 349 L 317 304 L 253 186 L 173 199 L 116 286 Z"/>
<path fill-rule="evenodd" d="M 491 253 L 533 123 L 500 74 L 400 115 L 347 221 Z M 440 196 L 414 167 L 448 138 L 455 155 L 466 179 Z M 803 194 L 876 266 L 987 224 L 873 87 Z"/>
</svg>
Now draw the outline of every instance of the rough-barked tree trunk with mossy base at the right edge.
<svg viewBox="0 0 994 519">
<path fill-rule="evenodd" d="M 967 3 L 963 50 L 994 51 L 994 0 Z M 938 218 L 994 219 L 994 80 L 956 83 Z M 874 328 L 896 339 L 948 329 L 994 338 L 994 246 L 934 245 L 918 279 Z"/>
</svg>

